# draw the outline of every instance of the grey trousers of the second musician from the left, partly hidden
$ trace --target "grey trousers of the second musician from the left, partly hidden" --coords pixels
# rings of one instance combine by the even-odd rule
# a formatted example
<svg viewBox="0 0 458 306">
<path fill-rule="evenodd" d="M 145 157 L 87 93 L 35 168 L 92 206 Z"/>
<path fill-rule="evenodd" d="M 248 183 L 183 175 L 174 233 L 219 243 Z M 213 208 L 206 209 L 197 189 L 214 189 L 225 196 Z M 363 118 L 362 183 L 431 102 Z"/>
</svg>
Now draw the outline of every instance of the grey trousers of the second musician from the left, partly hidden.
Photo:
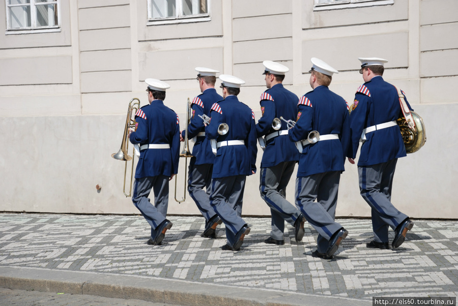
<svg viewBox="0 0 458 306">
<path fill-rule="evenodd" d="M 210 218 L 216 215 L 215 210 L 210 205 L 213 164 L 195 165 L 194 163 L 195 157 L 191 158 L 188 167 L 188 192 L 204 216 L 205 225 L 207 225 Z"/>
</svg>

